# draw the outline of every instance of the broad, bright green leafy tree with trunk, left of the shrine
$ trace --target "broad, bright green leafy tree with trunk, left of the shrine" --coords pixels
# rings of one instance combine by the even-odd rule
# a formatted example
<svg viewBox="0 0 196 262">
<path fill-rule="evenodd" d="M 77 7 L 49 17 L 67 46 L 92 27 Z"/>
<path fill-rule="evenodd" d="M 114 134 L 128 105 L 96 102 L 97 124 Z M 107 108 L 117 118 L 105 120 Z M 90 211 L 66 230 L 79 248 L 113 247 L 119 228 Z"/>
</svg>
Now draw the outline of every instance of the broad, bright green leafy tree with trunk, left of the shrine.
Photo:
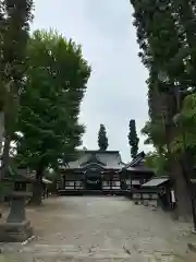
<svg viewBox="0 0 196 262">
<path fill-rule="evenodd" d="M 17 162 L 36 170 L 32 202 L 41 202 L 46 168 L 68 164 L 82 144 L 79 106 L 90 68 L 82 48 L 57 32 L 36 31 L 28 43 L 27 88 L 21 97 Z"/>
</svg>

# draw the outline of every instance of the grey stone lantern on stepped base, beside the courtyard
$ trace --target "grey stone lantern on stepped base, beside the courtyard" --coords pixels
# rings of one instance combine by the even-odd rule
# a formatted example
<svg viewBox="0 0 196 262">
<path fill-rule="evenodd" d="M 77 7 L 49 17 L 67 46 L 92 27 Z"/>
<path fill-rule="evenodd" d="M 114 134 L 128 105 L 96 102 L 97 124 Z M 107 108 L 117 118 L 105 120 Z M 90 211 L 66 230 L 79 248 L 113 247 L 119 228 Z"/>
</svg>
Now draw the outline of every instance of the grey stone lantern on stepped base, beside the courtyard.
<svg viewBox="0 0 196 262">
<path fill-rule="evenodd" d="M 25 203 L 32 196 L 26 191 L 26 186 L 33 182 L 33 178 L 24 175 L 24 170 L 15 172 L 10 167 L 9 175 L 3 179 L 13 186 L 13 190 L 8 195 L 11 199 L 10 213 L 5 222 L 0 224 L 1 242 L 23 242 L 33 236 L 33 228 L 25 213 Z"/>
</svg>

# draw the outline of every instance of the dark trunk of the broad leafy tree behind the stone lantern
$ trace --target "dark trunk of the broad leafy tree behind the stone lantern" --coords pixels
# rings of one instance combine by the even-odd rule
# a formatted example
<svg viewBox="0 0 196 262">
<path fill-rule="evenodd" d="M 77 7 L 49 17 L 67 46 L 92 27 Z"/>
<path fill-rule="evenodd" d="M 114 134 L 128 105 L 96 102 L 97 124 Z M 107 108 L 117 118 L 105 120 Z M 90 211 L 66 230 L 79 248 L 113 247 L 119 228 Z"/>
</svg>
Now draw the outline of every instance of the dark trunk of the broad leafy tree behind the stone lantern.
<svg viewBox="0 0 196 262">
<path fill-rule="evenodd" d="M 33 196 L 30 199 L 30 205 L 41 205 L 42 204 L 42 174 L 44 168 L 39 166 L 36 171 L 36 180 L 33 183 Z"/>
</svg>

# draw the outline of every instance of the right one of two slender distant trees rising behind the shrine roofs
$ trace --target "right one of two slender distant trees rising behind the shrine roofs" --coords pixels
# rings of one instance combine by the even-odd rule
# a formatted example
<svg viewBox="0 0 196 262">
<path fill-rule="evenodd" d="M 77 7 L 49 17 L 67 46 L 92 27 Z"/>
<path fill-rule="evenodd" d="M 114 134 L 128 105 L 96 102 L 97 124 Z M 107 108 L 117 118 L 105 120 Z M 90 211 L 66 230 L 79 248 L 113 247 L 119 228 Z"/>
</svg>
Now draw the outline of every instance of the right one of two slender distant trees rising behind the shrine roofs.
<svg viewBox="0 0 196 262">
<path fill-rule="evenodd" d="M 134 119 L 130 121 L 128 127 L 130 127 L 130 133 L 127 138 L 128 138 L 128 144 L 131 146 L 131 156 L 132 158 L 135 158 L 138 153 L 139 139 L 137 136 L 136 124 Z"/>
</svg>

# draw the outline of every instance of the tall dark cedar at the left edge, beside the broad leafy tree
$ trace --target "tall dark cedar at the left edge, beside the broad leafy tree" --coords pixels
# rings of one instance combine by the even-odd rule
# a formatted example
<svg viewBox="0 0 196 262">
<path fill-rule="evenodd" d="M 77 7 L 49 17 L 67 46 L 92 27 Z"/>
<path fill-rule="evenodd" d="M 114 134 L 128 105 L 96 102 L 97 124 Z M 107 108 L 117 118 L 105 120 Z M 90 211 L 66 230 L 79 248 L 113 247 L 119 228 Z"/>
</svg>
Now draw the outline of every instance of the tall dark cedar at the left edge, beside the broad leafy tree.
<svg viewBox="0 0 196 262">
<path fill-rule="evenodd" d="M 33 17 L 32 8 L 33 0 L 2 0 L 0 2 L 0 110 L 1 126 L 4 126 L 1 178 L 9 166 L 10 142 L 17 119 L 20 96 L 25 88 L 26 47 L 29 22 Z M 2 138 L 0 140 L 2 142 Z"/>
</svg>

